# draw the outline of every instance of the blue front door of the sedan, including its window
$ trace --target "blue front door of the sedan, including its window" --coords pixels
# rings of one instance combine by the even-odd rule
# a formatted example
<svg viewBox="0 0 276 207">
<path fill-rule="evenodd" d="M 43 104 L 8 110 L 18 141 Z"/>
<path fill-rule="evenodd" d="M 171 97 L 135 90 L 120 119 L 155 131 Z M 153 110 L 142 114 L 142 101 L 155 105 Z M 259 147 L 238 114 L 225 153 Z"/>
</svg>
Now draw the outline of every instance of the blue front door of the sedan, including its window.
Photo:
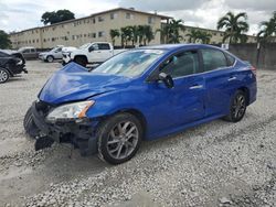
<svg viewBox="0 0 276 207">
<path fill-rule="evenodd" d="M 159 70 L 172 76 L 174 87 L 169 89 L 161 81 L 149 85 L 150 94 L 157 99 L 157 103 L 150 109 L 151 132 L 170 130 L 202 119 L 205 84 L 200 74 L 198 51 L 172 55 L 161 64 Z"/>
</svg>

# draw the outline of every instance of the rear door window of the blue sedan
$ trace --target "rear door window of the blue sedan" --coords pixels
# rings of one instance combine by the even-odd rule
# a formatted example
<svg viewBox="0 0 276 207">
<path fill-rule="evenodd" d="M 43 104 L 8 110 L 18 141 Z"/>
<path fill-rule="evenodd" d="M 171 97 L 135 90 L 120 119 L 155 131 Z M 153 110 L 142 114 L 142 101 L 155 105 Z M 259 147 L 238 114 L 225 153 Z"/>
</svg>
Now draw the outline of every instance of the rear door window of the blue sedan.
<svg viewBox="0 0 276 207">
<path fill-rule="evenodd" d="M 226 67 L 227 62 L 225 55 L 219 50 L 205 48 L 202 50 L 204 70 L 213 70 L 220 67 Z"/>
</svg>

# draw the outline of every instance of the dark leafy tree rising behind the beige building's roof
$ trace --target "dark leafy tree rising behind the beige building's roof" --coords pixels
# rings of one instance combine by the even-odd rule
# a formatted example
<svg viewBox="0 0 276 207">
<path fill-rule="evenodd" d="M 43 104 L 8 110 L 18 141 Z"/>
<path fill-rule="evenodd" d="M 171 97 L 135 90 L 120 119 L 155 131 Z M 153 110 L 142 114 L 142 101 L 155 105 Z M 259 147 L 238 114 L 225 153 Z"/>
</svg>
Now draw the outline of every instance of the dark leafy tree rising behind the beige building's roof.
<svg viewBox="0 0 276 207">
<path fill-rule="evenodd" d="M 44 25 L 46 24 L 54 24 L 59 22 L 63 22 L 66 20 L 73 20 L 75 19 L 75 14 L 71 12 L 70 10 L 57 10 L 52 12 L 44 12 L 41 17 L 41 22 L 43 22 Z"/>
</svg>

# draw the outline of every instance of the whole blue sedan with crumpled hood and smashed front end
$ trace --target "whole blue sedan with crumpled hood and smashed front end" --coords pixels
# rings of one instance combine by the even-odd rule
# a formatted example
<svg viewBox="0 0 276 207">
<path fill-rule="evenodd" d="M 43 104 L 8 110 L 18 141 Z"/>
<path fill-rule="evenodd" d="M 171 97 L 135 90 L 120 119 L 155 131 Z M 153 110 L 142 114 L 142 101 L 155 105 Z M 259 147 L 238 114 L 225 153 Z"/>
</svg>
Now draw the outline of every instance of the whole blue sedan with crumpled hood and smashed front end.
<svg viewBox="0 0 276 207">
<path fill-rule="evenodd" d="M 219 47 L 140 47 L 92 72 L 75 63 L 56 72 L 28 110 L 24 128 L 42 135 L 36 149 L 70 142 L 82 154 L 119 164 L 142 140 L 217 118 L 241 121 L 256 92 L 256 69 Z"/>
</svg>

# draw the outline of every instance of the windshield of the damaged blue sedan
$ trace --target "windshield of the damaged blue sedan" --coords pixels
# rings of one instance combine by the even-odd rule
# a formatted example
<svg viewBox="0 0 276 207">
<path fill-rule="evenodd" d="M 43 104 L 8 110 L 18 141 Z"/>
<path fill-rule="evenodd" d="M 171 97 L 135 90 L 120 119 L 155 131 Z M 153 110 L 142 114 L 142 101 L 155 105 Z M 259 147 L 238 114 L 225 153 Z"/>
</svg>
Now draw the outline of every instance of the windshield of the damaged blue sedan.
<svg viewBox="0 0 276 207">
<path fill-rule="evenodd" d="M 163 53 L 161 50 L 128 51 L 106 61 L 92 73 L 135 77 L 142 74 Z"/>
</svg>

